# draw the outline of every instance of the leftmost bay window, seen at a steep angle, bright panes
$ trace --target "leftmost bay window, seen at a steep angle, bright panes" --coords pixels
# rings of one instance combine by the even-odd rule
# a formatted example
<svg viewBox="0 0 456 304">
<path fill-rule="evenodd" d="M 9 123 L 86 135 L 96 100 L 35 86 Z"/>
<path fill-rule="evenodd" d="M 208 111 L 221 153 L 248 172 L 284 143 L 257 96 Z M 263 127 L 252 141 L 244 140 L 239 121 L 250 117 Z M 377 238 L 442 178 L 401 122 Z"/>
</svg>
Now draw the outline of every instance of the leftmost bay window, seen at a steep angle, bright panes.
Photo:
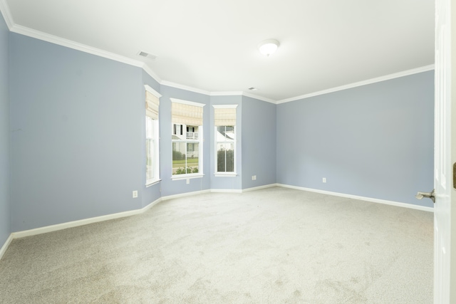
<svg viewBox="0 0 456 304">
<path fill-rule="evenodd" d="M 160 94 L 145 85 L 145 184 L 160 180 L 158 171 L 158 108 Z"/>
</svg>

